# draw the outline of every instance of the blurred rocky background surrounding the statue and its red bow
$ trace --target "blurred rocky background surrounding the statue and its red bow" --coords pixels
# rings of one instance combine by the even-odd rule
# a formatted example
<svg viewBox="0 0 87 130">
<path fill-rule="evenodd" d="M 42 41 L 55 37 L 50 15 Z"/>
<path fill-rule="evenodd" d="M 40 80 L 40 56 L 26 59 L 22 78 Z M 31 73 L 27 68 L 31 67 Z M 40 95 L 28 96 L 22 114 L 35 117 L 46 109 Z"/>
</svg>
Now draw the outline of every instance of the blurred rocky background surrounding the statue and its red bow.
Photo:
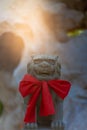
<svg viewBox="0 0 87 130">
<path fill-rule="evenodd" d="M 32 54 L 59 56 L 72 88 L 64 101 L 65 130 L 87 127 L 87 0 L 0 1 L 0 130 L 21 130 L 18 91 Z"/>
</svg>

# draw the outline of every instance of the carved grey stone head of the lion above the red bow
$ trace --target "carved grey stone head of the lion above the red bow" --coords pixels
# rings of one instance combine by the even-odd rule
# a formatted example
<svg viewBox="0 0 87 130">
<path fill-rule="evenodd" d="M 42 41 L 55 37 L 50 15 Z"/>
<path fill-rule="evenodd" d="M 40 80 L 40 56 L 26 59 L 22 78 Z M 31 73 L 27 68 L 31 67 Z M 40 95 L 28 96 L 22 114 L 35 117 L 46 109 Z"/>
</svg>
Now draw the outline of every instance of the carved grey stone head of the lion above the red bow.
<svg viewBox="0 0 87 130">
<path fill-rule="evenodd" d="M 35 55 L 27 65 L 27 71 L 39 80 L 59 79 L 61 66 L 58 56 Z"/>
</svg>

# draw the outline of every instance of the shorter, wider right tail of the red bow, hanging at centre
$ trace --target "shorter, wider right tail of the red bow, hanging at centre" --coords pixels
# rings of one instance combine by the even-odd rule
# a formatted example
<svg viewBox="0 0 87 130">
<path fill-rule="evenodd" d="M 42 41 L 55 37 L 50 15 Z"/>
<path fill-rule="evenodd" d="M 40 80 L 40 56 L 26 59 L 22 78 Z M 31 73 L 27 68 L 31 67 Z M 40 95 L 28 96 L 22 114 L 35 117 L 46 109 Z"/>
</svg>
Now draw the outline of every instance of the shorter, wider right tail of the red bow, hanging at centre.
<svg viewBox="0 0 87 130">
<path fill-rule="evenodd" d="M 40 106 L 40 116 L 48 116 L 55 114 L 54 104 L 52 96 L 49 92 L 47 82 L 42 83 L 42 98 Z"/>
</svg>

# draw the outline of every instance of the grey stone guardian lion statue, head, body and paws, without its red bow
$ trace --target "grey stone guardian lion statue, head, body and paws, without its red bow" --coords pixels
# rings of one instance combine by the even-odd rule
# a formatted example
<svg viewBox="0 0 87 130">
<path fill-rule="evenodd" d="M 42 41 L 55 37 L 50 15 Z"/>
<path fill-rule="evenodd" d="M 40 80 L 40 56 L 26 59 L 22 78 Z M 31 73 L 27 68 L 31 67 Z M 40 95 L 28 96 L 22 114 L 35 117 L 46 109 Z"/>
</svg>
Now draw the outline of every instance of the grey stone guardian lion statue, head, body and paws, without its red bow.
<svg viewBox="0 0 87 130">
<path fill-rule="evenodd" d="M 32 56 L 31 61 L 27 65 L 27 72 L 39 80 L 47 81 L 59 79 L 61 74 L 60 70 L 61 66 L 58 62 L 58 56 L 35 55 Z M 38 126 L 47 127 L 51 125 L 52 128 L 63 128 L 63 100 L 56 96 L 53 91 L 51 91 L 51 94 L 54 101 L 56 114 L 54 116 L 40 117 L 38 112 L 41 98 L 39 98 L 37 103 L 37 123 L 28 123 L 26 124 L 26 127 L 36 128 Z M 28 100 L 29 97 L 25 98 L 25 104 L 27 104 Z"/>
</svg>

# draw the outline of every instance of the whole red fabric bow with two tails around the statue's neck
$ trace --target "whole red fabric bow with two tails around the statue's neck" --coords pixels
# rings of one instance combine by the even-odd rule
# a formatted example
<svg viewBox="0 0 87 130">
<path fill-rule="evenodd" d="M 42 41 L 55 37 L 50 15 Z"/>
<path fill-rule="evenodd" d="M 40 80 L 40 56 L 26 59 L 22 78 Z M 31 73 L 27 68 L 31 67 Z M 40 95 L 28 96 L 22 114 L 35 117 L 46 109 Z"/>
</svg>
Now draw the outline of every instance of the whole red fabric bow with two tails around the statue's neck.
<svg viewBox="0 0 87 130">
<path fill-rule="evenodd" d="M 40 116 L 53 115 L 55 114 L 55 109 L 49 87 L 55 91 L 59 97 L 64 99 L 70 90 L 70 86 L 71 84 L 65 80 L 39 81 L 31 75 L 26 74 L 19 85 L 19 91 L 23 97 L 31 94 L 24 122 L 36 122 L 35 109 L 40 93 L 42 94 Z"/>
</svg>

